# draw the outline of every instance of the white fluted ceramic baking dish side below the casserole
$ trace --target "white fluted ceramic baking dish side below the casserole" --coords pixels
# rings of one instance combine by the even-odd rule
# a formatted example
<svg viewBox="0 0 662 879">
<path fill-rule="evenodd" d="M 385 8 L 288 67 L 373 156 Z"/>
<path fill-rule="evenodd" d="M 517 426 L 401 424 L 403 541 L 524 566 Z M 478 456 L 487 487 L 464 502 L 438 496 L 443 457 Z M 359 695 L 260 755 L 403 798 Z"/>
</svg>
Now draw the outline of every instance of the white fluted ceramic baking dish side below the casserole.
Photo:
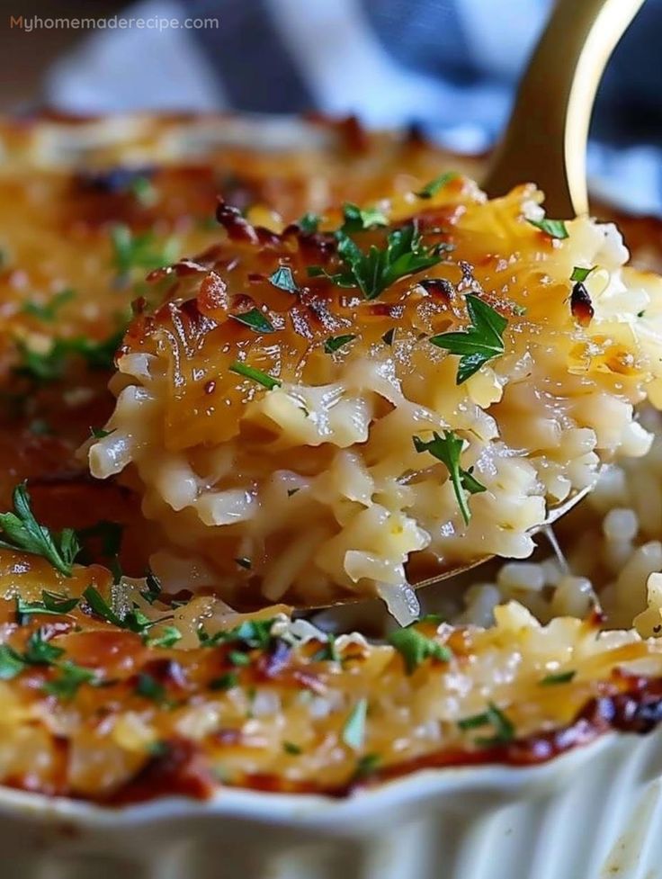
<svg viewBox="0 0 662 879">
<path fill-rule="evenodd" d="M 538 767 L 426 770 L 344 800 L 123 809 L 4 789 L 2 879 L 659 879 L 662 732 Z"/>
</svg>

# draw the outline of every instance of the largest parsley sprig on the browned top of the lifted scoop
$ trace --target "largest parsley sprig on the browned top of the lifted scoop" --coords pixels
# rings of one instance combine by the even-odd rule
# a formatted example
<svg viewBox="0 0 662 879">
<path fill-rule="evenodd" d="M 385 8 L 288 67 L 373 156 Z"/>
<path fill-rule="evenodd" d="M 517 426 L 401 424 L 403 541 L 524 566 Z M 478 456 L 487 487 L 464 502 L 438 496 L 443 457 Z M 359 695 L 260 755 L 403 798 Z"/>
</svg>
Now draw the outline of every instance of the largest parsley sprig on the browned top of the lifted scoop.
<svg viewBox="0 0 662 879">
<path fill-rule="evenodd" d="M 365 299 L 376 299 L 380 292 L 408 274 L 416 274 L 441 262 L 441 248 L 425 247 L 416 220 L 389 232 L 386 247 L 371 245 L 364 253 L 342 230 L 335 233 L 338 256 L 344 269 L 329 274 L 319 265 L 309 266 L 310 277 L 326 277 L 339 287 L 358 287 Z"/>
</svg>

